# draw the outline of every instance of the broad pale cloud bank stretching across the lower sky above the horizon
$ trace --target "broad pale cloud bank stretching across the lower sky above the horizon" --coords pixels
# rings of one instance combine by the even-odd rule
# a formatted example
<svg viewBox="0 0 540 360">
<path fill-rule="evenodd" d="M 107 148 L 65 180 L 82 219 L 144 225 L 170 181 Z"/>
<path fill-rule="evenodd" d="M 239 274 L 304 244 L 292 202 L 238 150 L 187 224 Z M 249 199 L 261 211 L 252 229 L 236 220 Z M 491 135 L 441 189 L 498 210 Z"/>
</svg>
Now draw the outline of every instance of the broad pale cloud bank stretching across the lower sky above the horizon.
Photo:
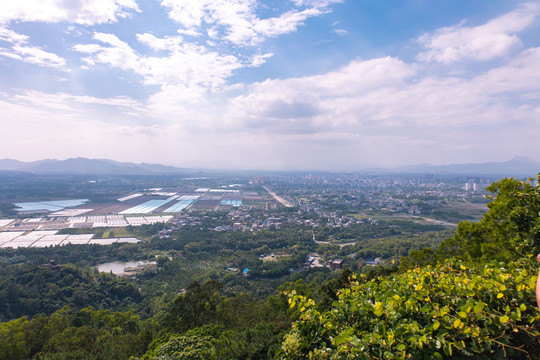
<svg viewBox="0 0 540 360">
<path fill-rule="evenodd" d="M 116 39 L 103 39 L 122 46 Z M 434 162 L 434 154 L 441 162 L 460 156 L 470 161 L 466 155 L 476 145 L 475 153 L 489 150 L 490 156 L 506 159 L 509 152 L 527 154 L 521 143 L 534 143 L 540 136 L 535 120 L 540 104 L 534 97 L 540 92 L 539 57 L 540 50 L 526 50 L 471 79 L 428 77 L 421 66 L 392 57 L 355 60 L 325 74 L 232 87 L 228 90 L 240 95 L 228 103 L 212 101 L 203 86 L 182 84 L 163 86 L 146 102 L 25 92 L 10 99 L 9 106 L 0 102 L 0 110 L 11 118 L 18 106 L 21 112 L 13 118 L 21 124 L 10 129 L 34 134 L 38 128 L 39 135 L 29 135 L 34 139 L 60 136 L 50 130 L 52 125 L 70 126 L 61 136 L 71 153 L 80 149 L 77 154 L 95 157 L 114 151 L 118 158 L 163 162 L 156 160 L 158 154 L 176 153 L 179 159 L 189 157 L 192 165 L 211 157 L 216 159 L 211 166 L 223 166 L 218 153 L 243 166 L 336 169 L 366 161 Z M 506 93 L 503 100 L 530 97 L 523 103 L 501 101 L 501 93 Z M 116 110 L 98 116 L 100 107 Z M 88 121 L 96 128 L 99 121 L 107 123 L 108 134 L 92 130 Z M 81 134 L 88 137 L 80 144 L 68 139 Z M 93 145 L 94 136 L 101 136 L 102 146 Z M 490 148 L 490 141 L 498 146 Z"/>
</svg>

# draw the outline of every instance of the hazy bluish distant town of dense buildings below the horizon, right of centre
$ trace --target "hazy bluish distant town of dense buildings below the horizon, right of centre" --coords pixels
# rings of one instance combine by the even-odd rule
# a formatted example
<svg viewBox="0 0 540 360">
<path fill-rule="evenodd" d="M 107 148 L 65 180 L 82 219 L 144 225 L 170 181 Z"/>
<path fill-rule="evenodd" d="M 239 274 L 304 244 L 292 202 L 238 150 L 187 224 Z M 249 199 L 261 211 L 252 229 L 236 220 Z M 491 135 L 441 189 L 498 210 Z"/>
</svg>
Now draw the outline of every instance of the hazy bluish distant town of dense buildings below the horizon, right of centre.
<svg viewBox="0 0 540 360">
<path fill-rule="evenodd" d="M 323 174 L 269 179 L 267 184 L 289 203 L 315 212 L 364 209 L 428 215 L 448 199 L 484 201 L 491 181 L 434 175 Z"/>
</svg>

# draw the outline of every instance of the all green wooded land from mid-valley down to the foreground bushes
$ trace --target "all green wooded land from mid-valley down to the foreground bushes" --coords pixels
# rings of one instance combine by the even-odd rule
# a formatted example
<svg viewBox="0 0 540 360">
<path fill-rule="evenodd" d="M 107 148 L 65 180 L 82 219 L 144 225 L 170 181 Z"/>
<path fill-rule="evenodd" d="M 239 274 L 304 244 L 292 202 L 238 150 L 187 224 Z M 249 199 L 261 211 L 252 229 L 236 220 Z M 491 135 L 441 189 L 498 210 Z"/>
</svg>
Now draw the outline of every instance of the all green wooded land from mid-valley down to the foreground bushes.
<svg viewBox="0 0 540 360">
<path fill-rule="evenodd" d="M 65 249 L 13 250 L 0 259 L 0 359 L 538 359 L 540 189 L 504 179 L 489 190 L 481 221 L 425 249 L 436 242 L 427 231 L 348 250 L 297 228 L 181 232 L 107 250 L 159 255 L 156 272 L 134 280 L 63 264 L 84 264 Z M 316 246 L 413 250 L 399 266 L 289 271 Z M 88 249 L 78 251 L 105 251 Z M 283 256 L 261 261 L 270 249 Z M 32 263 L 53 254 L 60 266 Z M 216 270 L 226 266 L 257 276 Z"/>
</svg>

